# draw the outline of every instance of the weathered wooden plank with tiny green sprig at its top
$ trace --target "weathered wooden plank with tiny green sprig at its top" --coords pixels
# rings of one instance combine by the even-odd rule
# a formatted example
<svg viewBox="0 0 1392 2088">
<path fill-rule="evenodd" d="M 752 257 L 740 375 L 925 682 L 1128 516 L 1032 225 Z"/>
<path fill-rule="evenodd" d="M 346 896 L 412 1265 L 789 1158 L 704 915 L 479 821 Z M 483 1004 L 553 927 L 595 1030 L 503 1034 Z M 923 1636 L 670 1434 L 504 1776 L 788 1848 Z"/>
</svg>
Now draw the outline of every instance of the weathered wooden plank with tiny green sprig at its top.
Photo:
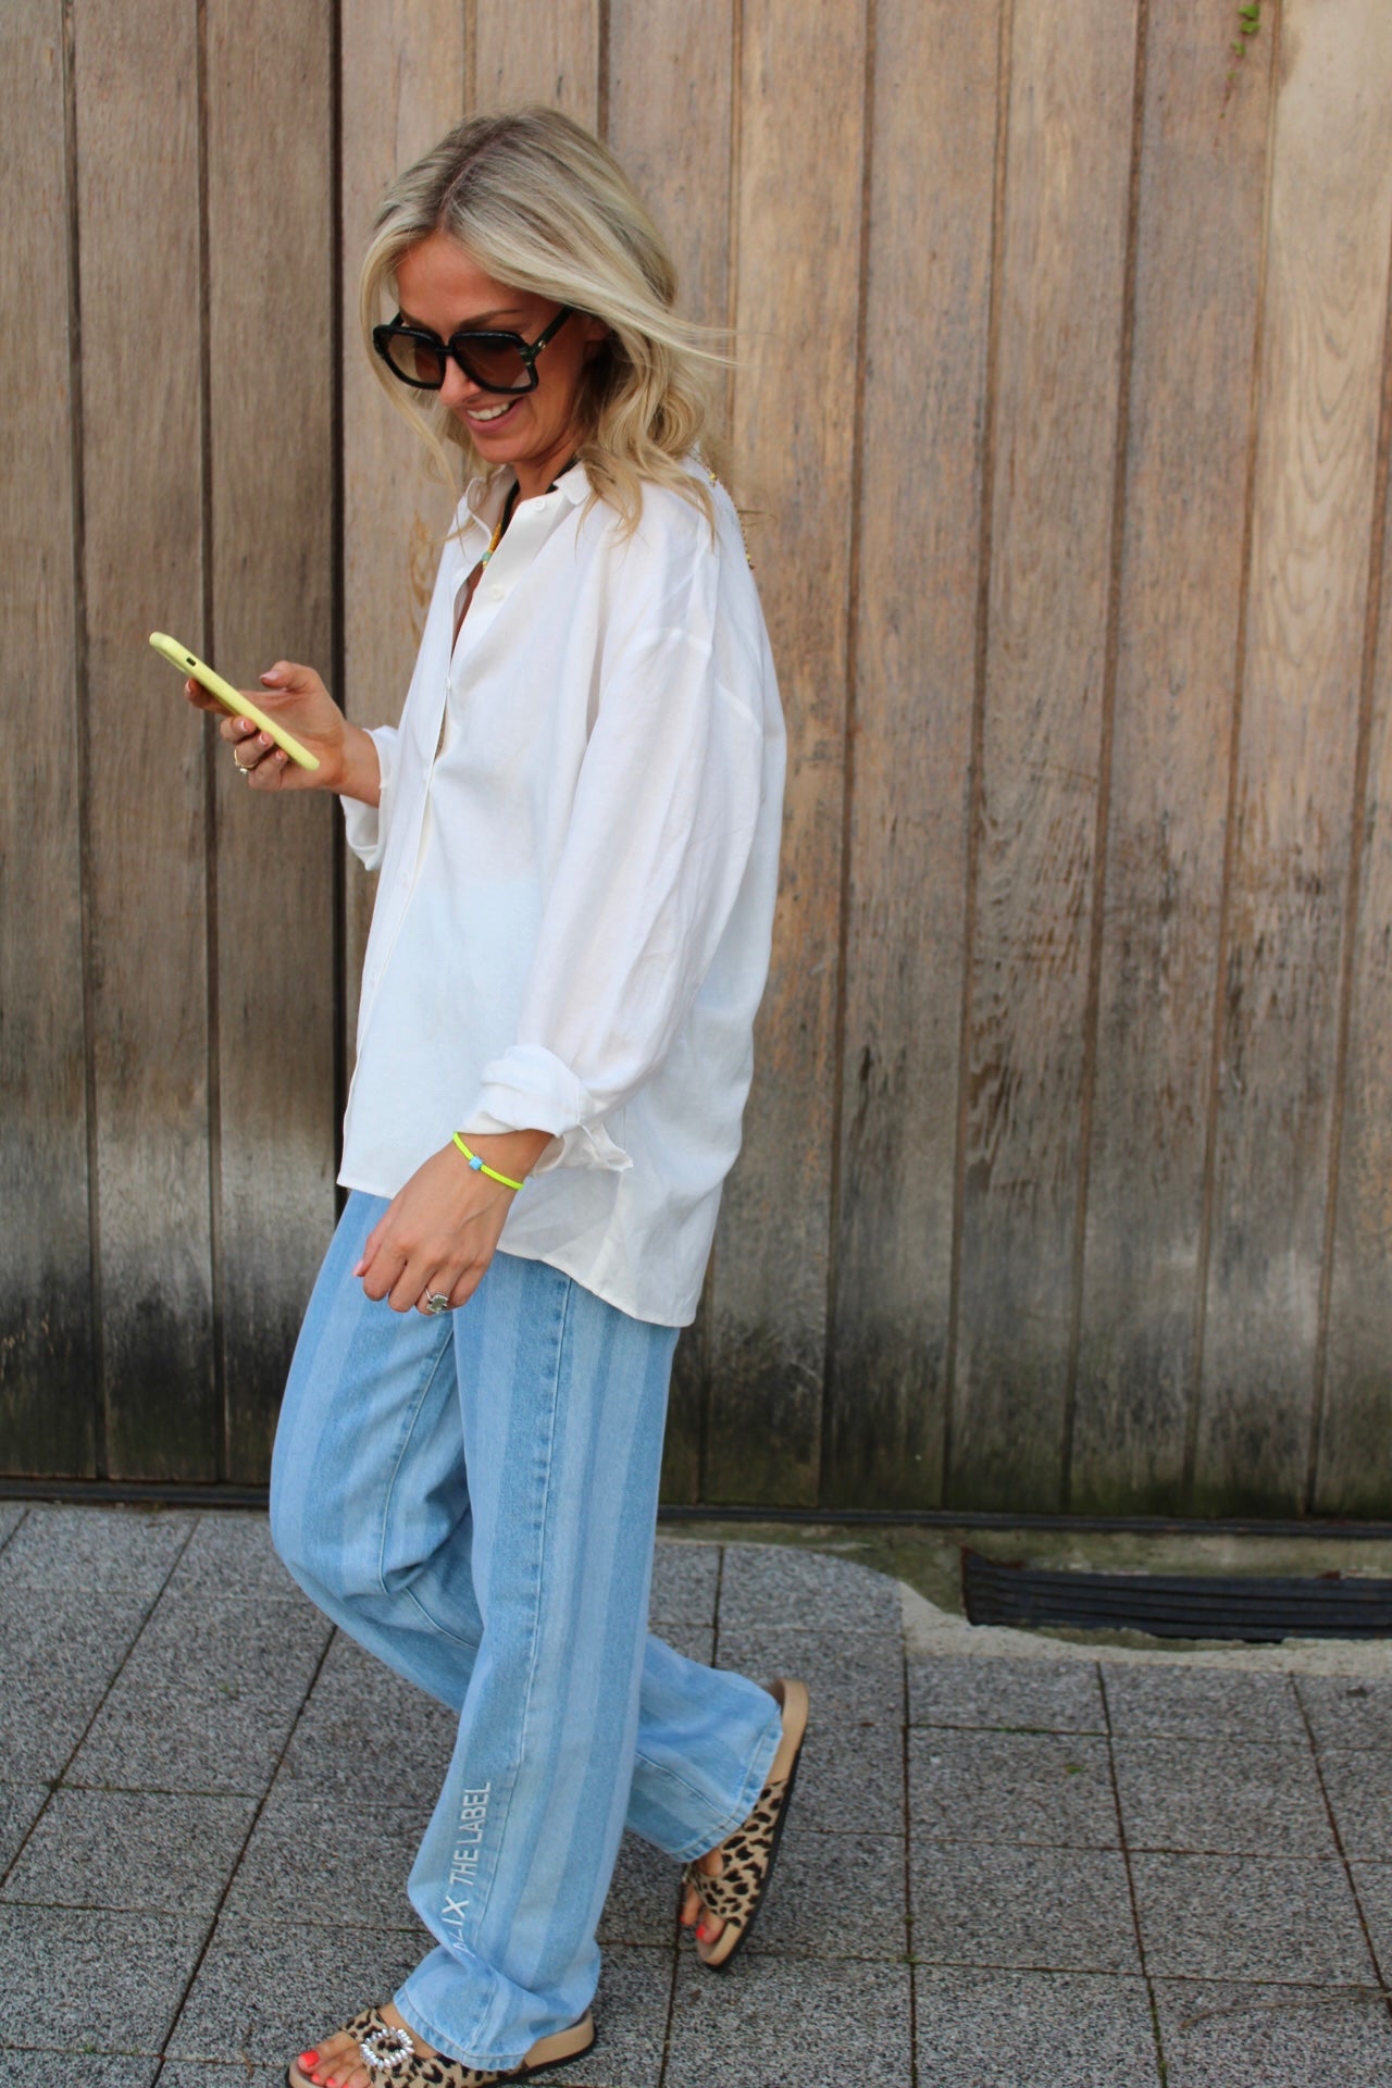
<svg viewBox="0 0 1392 2088">
<path fill-rule="evenodd" d="M 1075 1510 L 1183 1487 L 1273 46 L 1229 92 L 1231 27 L 1152 0 Z"/>
</svg>

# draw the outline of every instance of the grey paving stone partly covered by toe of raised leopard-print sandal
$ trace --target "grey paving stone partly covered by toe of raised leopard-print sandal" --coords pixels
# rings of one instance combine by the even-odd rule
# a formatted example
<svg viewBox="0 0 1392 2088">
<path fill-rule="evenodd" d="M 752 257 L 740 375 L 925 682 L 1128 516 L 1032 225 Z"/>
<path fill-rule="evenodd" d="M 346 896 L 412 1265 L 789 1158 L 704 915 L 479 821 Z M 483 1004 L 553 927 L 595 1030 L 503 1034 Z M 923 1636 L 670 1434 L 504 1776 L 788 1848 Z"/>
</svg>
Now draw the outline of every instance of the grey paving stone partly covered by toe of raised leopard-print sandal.
<svg viewBox="0 0 1392 2088">
<path fill-rule="evenodd" d="M 906 1915 L 899 1835 L 812 1833 L 789 1814 L 778 1867 L 745 1948 L 751 1954 L 902 1963 Z"/>
</svg>

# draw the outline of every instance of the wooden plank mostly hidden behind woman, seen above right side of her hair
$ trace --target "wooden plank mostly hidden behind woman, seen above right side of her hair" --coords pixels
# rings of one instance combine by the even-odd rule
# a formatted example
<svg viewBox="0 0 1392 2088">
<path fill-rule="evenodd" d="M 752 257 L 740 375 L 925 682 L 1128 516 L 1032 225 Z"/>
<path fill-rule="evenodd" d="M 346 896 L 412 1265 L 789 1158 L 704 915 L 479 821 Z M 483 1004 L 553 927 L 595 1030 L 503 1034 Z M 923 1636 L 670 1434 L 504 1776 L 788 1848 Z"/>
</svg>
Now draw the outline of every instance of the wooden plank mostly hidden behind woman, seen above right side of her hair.
<svg viewBox="0 0 1392 2088">
<path fill-rule="evenodd" d="M 678 309 L 730 319 L 733 0 L 611 0 L 609 144 L 657 219 L 678 271 Z M 718 1249 L 716 1249 L 718 1251 Z M 710 1389 L 707 1305 L 682 1332 L 672 1368 L 664 1501 L 701 1497 Z"/>
</svg>

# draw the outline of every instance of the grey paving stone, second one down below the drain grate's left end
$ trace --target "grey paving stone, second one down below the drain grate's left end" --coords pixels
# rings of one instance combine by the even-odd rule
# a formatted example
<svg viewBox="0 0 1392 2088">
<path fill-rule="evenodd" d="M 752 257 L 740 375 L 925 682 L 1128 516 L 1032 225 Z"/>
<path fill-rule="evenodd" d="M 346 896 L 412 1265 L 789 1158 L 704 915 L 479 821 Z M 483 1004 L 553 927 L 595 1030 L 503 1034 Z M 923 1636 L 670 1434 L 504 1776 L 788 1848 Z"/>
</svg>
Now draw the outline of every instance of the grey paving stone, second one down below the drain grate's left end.
<svg viewBox="0 0 1392 2088">
<path fill-rule="evenodd" d="M 912 1731 L 908 1804 L 933 1842 L 1121 1844 L 1106 1741 L 1091 1733 Z"/>
</svg>

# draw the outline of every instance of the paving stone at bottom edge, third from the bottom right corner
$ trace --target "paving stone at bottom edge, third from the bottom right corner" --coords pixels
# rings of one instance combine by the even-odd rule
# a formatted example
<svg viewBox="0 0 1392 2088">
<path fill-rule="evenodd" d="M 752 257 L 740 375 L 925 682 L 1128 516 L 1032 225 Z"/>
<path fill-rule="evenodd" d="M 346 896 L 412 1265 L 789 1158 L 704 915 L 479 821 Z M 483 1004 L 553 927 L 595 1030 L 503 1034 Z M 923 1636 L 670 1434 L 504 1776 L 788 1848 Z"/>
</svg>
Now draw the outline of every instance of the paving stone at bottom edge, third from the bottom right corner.
<svg viewBox="0 0 1392 2088">
<path fill-rule="evenodd" d="M 666 2088 L 906 2088 L 904 1965 L 741 1956 L 726 1979 L 678 1969 Z"/>
</svg>

